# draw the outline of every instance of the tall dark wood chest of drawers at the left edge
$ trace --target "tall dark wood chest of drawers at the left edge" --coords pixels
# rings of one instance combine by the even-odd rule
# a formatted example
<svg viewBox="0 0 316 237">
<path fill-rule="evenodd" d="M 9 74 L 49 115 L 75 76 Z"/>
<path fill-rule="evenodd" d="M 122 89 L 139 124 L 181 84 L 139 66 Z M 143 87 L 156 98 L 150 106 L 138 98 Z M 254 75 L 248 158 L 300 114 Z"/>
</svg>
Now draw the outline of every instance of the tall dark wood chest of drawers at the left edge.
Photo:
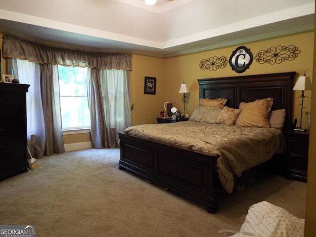
<svg viewBox="0 0 316 237">
<path fill-rule="evenodd" d="M 0 179 L 26 172 L 26 93 L 29 85 L 0 83 Z"/>
</svg>

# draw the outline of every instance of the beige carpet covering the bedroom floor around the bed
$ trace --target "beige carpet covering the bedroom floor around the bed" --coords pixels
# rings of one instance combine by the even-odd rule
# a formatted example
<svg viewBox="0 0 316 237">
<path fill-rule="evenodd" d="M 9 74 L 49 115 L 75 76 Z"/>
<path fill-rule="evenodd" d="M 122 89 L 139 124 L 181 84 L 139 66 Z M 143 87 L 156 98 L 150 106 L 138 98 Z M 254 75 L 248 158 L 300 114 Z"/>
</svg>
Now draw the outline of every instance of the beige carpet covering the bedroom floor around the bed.
<svg viewBox="0 0 316 237">
<path fill-rule="evenodd" d="M 38 159 L 0 181 L 0 225 L 35 225 L 37 237 L 227 237 L 266 200 L 305 217 L 306 183 L 269 176 L 223 194 L 218 213 L 118 169 L 118 149 Z"/>
</svg>

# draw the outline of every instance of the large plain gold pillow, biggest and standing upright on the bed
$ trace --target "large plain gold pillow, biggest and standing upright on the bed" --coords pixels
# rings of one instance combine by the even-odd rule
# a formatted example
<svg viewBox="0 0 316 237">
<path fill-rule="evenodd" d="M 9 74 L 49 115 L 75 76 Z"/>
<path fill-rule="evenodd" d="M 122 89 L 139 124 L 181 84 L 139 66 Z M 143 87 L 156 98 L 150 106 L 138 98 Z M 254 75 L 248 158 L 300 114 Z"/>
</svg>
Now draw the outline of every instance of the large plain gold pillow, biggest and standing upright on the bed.
<svg viewBox="0 0 316 237">
<path fill-rule="evenodd" d="M 252 102 L 240 102 L 241 112 L 235 122 L 243 127 L 270 127 L 268 115 L 273 104 L 273 98 L 258 99 Z"/>
</svg>

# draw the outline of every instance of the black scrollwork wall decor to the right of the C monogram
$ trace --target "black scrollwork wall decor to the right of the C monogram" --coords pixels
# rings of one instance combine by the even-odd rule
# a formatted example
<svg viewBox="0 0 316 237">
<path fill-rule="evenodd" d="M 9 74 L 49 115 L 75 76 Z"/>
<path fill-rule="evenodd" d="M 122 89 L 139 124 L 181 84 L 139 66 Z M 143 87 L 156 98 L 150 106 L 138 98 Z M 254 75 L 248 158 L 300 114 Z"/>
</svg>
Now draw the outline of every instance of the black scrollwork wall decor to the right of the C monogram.
<svg viewBox="0 0 316 237">
<path fill-rule="evenodd" d="M 284 61 L 292 61 L 298 57 L 300 52 L 301 50 L 299 50 L 295 45 L 278 45 L 260 50 L 256 54 L 255 59 L 260 64 L 268 63 L 274 65 L 280 64 Z"/>
</svg>

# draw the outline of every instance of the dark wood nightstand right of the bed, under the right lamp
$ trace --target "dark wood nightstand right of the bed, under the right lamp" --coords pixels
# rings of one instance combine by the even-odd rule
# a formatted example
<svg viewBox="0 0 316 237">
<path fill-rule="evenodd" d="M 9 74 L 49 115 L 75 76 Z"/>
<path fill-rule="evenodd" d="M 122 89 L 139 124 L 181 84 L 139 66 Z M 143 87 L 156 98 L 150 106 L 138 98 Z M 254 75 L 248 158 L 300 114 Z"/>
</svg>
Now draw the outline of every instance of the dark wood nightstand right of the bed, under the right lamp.
<svg viewBox="0 0 316 237">
<path fill-rule="evenodd" d="M 309 135 L 309 132 L 284 132 L 287 146 L 284 162 L 286 177 L 307 180 Z"/>
</svg>

